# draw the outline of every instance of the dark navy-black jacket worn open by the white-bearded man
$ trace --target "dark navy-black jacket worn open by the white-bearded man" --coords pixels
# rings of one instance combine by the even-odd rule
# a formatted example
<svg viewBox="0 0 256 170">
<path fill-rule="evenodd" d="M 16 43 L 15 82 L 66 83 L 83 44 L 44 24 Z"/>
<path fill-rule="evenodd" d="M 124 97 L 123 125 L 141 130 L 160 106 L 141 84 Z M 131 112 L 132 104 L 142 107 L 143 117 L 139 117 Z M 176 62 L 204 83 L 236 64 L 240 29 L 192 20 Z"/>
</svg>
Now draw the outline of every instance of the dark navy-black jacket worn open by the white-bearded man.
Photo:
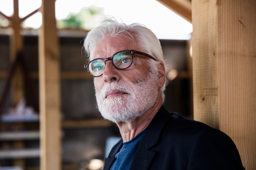
<svg viewBox="0 0 256 170">
<path fill-rule="evenodd" d="M 112 148 L 103 170 L 110 170 L 122 142 Z M 130 170 L 245 169 L 229 136 L 162 106 L 146 128 Z"/>
</svg>

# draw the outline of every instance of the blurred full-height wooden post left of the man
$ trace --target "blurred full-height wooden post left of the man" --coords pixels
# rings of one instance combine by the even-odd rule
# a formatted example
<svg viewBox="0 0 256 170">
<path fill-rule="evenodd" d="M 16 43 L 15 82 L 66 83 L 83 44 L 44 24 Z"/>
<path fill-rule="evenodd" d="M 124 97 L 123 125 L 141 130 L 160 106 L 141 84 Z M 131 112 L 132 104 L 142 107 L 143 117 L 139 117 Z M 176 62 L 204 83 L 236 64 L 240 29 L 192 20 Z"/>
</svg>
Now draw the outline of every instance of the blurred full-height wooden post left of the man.
<svg viewBox="0 0 256 170">
<path fill-rule="evenodd" d="M 42 0 L 39 32 L 40 170 L 61 169 L 60 66 L 55 0 Z"/>
</svg>

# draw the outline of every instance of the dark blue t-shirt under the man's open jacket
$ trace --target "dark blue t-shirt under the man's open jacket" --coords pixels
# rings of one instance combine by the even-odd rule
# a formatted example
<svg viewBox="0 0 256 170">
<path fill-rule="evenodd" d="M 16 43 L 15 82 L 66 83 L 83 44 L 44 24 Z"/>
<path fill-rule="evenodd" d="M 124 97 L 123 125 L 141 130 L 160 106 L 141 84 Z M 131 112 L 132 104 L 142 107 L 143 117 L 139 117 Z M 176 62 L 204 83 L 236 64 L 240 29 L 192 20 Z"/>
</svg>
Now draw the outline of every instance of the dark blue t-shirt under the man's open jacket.
<svg viewBox="0 0 256 170">
<path fill-rule="evenodd" d="M 114 161 L 110 170 L 129 170 L 138 144 L 144 133 L 145 130 L 132 140 L 123 142 L 123 147 L 120 149 L 119 153 L 116 154 L 116 160 Z"/>
</svg>

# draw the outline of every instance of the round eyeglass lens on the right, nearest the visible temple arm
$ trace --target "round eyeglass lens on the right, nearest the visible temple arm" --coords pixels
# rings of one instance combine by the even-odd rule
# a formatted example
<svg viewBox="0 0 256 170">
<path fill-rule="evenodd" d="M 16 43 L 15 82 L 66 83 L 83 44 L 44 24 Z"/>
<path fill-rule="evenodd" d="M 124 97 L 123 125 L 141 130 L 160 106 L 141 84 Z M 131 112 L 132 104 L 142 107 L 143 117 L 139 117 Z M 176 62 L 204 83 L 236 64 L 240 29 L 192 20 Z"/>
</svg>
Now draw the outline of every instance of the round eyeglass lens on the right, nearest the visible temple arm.
<svg viewBox="0 0 256 170">
<path fill-rule="evenodd" d="M 113 57 L 113 63 L 117 68 L 128 68 L 132 63 L 132 54 L 130 51 L 122 51 Z"/>
</svg>

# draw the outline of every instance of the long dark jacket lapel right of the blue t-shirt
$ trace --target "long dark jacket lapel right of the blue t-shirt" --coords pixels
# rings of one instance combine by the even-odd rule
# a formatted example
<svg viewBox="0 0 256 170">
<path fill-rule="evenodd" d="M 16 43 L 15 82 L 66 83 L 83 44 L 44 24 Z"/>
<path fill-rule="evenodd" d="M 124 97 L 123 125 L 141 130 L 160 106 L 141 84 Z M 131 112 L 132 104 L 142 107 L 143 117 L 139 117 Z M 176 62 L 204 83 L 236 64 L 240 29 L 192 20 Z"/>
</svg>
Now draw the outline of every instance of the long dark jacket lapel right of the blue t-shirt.
<svg viewBox="0 0 256 170">
<path fill-rule="evenodd" d="M 151 161 L 155 156 L 155 151 L 151 150 L 158 142 L 161 131 L 163 130 L 166 121 L 172 115 L 162 106 L 156 113 L 154 119 L 146 128 L 145 135 L 138 145 L 137 151 L 133 158 L 130 170 L 147 170 Z"/>
</svg>

